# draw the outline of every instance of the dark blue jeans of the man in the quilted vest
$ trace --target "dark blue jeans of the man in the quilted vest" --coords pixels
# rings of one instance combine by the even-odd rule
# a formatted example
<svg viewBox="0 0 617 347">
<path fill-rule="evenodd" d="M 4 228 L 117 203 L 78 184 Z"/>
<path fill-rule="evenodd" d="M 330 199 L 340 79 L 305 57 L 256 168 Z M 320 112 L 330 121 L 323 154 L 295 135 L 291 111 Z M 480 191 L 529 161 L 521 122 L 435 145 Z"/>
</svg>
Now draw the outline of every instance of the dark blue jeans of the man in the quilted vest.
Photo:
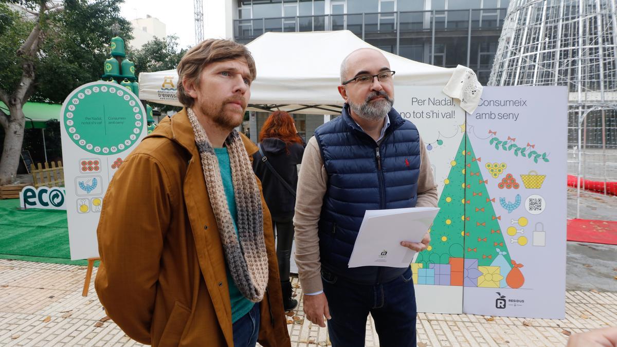
<svg viewBox="0 0 617 347">
<path fill-rule="evenodd" d="M 333 347 L 364 346 L 369 312 L 375 320 L 379 345 L 416 346 L 412 269 L 387 283 L 358 285 L 322 268 L 321 282 L 332 316 L 328 333 Z"/>
</svg>

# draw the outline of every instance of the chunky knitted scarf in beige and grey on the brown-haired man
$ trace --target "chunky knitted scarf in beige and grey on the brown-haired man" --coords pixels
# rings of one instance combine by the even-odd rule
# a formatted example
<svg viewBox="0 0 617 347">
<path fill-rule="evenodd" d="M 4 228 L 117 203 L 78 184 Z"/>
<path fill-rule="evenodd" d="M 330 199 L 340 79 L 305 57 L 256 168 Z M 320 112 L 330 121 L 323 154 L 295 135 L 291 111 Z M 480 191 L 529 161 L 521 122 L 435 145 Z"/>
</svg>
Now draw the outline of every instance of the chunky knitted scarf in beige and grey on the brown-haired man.
<svg viewBox="0 0 617 347">
<path fill-rule="evenodd" d="M 187 113 L 195 133 L 195 143 L 204 169 L 205 185 L 217 220 L 231 277 L 242 295 L 258 303 L 263 299 L 268 284 L 268 254 L 263 239 L 262 199 L 249 162 L 249 155 L 242 138 L 236 130 L 233 130 L 227 136 L 225 146 L 230 156 L 231 181 L 238 209 L 237 227 L 240 239 L 238 240 L 217 156 L 193 110 L 187 109 Z"/>
</svg>

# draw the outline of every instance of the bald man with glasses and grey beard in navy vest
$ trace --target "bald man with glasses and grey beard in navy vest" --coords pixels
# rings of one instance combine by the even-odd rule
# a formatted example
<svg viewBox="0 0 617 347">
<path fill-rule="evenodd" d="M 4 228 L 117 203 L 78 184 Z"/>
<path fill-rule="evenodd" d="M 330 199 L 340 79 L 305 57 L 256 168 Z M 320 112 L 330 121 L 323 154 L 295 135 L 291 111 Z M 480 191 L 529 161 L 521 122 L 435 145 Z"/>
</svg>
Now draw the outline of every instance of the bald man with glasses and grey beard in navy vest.
<svg viewBox="0 0 617 347">
<path fill-rule="evenodd" d="M 321 327 L 328 319 L 335 347 L 364 345 L 369 312 L 382 346 L 416 345 L 410 267 L 347 267 L 366 210 L 437 206 L 418 130 L 392 108 L 393 75 L 375 49 L 349 54 L 341 117 L 315 130 L 300 167 L 294 225 L 304 312 Z M 430 240 L 426 233 L 400 246 L 423 251 Z"/>
</svg>

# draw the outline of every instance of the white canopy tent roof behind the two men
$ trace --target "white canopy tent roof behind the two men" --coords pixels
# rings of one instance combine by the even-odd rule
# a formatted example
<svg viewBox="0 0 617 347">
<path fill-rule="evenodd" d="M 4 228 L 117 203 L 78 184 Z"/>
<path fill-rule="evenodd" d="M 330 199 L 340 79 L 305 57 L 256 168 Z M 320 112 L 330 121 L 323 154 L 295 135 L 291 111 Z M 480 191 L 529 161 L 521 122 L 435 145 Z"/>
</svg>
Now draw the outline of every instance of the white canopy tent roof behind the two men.
<svg viewBox="0 0 617 347">
<path fill-rule="evenodd" d="M 265 33 L 246 46 L 257 65 L 249 110 L 302 114 L 339 114 L 343 100 L 336 87 L 342 60 L 358 48 L 377 49 L 349 30 Z M 381 52 L 396 72 L 395 85 L 444 86 L 446 95 L 459 100 L 470 85 L 481 89 L 466 67 L 446 69 Z M 140 99 L 181 106 L 175 97 L 177 83 L 176 70 L 140 73 Z M 477 101 L 479 94 L 472 98 Z M 473 112 L 476 104 L 470 100 L 461 106 Z"/>
</svg>

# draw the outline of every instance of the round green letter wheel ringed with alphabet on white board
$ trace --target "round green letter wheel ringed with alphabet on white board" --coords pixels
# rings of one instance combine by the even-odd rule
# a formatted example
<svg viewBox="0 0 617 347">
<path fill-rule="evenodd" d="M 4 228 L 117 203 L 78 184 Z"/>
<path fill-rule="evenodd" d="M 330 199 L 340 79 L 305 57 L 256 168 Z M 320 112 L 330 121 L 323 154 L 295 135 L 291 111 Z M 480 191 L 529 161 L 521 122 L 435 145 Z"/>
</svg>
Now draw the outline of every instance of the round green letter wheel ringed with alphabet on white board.
<svg viewBox="0 0 617 347">
<path fill-rule="evenodd" d="M 67 99 L 62 126 L 73 143 L 88 153 L 122 153 L 145 130 L 146 112 L 141 102 L 114 83 L 88 83 Z"/>
</svg>

